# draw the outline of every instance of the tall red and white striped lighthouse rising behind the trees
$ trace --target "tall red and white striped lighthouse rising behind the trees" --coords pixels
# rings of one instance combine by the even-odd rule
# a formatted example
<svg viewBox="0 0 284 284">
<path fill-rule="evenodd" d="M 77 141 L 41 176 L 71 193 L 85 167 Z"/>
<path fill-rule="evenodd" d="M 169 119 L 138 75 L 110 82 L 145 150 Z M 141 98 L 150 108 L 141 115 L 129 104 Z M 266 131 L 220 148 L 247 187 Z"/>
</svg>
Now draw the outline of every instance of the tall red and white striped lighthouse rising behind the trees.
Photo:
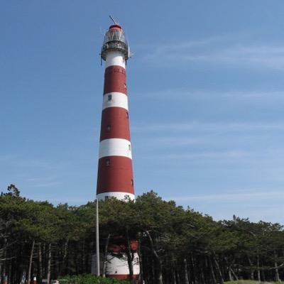
<svg viewBox="0 0 284 284">
<path fill-rule="evenodd" d="M 129 59 L 129 45 L 124 31 L 116 23 L 109 27 L 109 31 L 104 36 L 101 57 L 106 63 L 99 141 L 97 199 L 105 200 L 109 197 L 116 197 L 119 200 L 125 200 L 125 198 L 134 200 L 126 88 L 126 61 Z M 137 246 L 137 241 L 131 241 L 131 249 L 134 253 L 133 276 L 136 279 L 140 272 Z M 129 265 L 125 250 L 124 239 L 114 236 L 108 248 L 106 269 L 108 277 L 129 278 Z"/>
</svg>

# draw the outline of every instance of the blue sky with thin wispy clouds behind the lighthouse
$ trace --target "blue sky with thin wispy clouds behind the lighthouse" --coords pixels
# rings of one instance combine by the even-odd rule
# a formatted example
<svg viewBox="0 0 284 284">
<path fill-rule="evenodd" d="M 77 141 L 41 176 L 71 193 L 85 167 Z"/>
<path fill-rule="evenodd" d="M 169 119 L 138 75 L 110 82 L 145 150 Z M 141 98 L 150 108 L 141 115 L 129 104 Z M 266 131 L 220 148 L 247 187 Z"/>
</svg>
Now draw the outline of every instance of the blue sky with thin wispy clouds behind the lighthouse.
<svg viewBox="0 0 284 284">
<path fill-rule="evenodd" d="M 104 67 L 116 18 L 136 195 L 215 219 L 283 224 L 283 1 L 1 1 L 0 189 L 93 200 Z"/>
</svg>

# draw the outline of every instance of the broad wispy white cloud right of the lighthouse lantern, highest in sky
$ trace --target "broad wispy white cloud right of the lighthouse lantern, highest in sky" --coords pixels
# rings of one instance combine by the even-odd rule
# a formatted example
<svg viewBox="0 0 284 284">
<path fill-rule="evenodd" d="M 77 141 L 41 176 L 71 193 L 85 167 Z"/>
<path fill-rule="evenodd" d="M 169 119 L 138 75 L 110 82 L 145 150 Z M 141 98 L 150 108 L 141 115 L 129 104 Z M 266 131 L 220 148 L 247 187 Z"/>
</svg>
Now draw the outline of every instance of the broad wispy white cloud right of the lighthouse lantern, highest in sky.
<svg viewBox="0 0 284 284">
<path fill-rule="evenodd" d="M 241 41 L 244 43 L 239 44 Z M 150 51 L 151 50 L 151 51 Z M 158 58 L 158 61 L 157 61 Z M 143 60 L 153 62 L 156 67 L 179 66 L 188 62 L 202 62 L 214 65 L 234 65 L 241 67 L 262 67 L 266 70 L 284 70 L 284 45 L 251 44 L 246 37 L 234 38 L 232 35 L 216 36 L 182 43 L 160 44 L 149 49 Z"/>
</svg>

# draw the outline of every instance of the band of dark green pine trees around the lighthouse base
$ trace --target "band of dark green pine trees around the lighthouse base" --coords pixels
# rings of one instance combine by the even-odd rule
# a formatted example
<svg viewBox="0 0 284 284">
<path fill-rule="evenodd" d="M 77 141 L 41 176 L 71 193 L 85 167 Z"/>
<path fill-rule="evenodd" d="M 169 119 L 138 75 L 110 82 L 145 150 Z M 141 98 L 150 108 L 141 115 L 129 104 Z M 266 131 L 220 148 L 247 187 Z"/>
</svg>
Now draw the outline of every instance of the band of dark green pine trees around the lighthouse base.
<svg viewBox="0 0 284 284">
<path fill-rule="evenodd" d="M 49 202 L 27 200 L 10 185 L 0 195 L 0 266 L 16 275 L 9 283 L 20 282 L 21 269 L 26 270 L 34 243 L 32 272 L 37 277 L 46 277 L 51 248 L 51 277 L 61 276 L 63 284 L 123 283 L 82 275 L 91 271 L 95 251 L 95 208 L 94 202 L 55 207 Z M 193 209 L 165 201 L 153 191 L 138 196 L 136 202 L 114 198 L 100 201 L 99 235 L 102 254 L 107 240 L 115 241 L 115 236 L 125 244 L 139 240 L 147 284 L 158 283 L 159 273 L 167 283 L 174 283 L 173 275 L 184 277 L 185 265 L 195 283 L 212 284 L 214 279 L 221 282 L 220 278 L 284 279 L 283 226 L 235 216 L 215 222 Z"/>
</svg>

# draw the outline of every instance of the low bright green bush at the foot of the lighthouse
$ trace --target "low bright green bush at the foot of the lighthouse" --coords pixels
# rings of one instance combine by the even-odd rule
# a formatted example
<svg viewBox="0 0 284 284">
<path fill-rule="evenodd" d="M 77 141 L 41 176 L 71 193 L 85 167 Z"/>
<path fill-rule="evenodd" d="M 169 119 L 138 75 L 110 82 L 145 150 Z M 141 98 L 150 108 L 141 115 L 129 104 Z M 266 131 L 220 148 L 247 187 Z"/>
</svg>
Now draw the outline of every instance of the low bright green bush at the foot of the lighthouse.
<svg viewBox="0 0 284 284">
<path fill-rule="evenodd" d="M 60 284 L 129 284 L 129 281 L 102 278 L 92 274 L 67 275 L 58 280 Z"/>
</svg>

